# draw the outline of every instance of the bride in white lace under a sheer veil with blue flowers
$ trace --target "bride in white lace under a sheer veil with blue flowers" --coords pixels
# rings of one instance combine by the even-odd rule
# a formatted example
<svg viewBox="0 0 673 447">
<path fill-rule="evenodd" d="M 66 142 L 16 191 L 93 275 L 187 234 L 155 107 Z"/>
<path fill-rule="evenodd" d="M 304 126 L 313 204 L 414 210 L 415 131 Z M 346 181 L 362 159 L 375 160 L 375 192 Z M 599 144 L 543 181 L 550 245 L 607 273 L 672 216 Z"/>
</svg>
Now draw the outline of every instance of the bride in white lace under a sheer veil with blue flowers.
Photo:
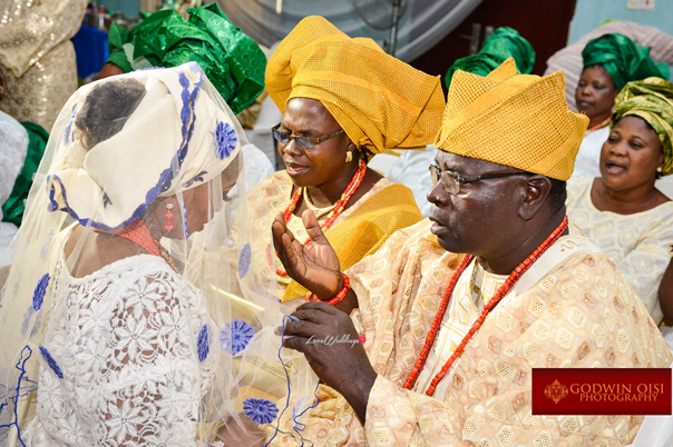
<svg viewBox="0 0 673 447">
<path fill-rule="evenodd" d="M 8 446 L 252 445 L 311 405 L 251 266 L 244 139 L 195 63 L 70 98 L 0 301 Z"/>
</svg>

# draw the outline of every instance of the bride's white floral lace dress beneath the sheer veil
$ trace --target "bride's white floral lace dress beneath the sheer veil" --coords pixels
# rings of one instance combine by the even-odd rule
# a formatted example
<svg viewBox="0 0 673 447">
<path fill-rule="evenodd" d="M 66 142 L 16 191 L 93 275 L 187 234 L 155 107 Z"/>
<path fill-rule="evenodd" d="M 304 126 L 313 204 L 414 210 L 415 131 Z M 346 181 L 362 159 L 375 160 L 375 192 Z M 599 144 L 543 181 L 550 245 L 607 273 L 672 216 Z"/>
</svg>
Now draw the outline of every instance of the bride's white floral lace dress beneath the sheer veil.
<svg viewBox="0 0 673 447">
<path fill-rule="evenodd" d="M 61 258 L 55 277 L 42 351 L 53 361 L 40 366 L 27 445 L 202 445 L 196 424 L 211 371 L 197 346 L 208 328 L 201 292 L 152 255 L 84 278 Z"/>
</svg>

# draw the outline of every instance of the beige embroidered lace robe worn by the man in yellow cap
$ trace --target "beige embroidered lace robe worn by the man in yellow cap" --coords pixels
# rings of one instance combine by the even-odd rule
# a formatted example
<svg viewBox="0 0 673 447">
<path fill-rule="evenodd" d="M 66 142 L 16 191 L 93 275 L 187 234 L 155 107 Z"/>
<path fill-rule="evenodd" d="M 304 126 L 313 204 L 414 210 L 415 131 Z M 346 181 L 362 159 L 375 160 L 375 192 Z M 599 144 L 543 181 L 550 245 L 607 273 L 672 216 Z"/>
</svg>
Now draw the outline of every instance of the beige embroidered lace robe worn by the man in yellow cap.
<svg viewBox="0 0 673 447">
<path fill-rule="evenodd" d="M 486 319 L 442 379 L 443 390 L 428 397 L 402 388 L 462 258 L 439 247 L 429 227 L 423 220 L 398 231 L 348 271 L 360 302 L 352 318 L 379 377 L 364 427 L 341 396 L 323 388 L 305 436 L 319 446 L 362 447 L 628 444 L 642 416 L 530 411 L 531 368 L 652 368 L 673 359 L 626 279 L 597 249 L 586 250 L 593 245 L 578 230 L 576 246 L 568 236 L 553 246 L 566 244 L 558 249 L 573 255 L 543 256 L 542 279 L 520 294 L 515 288 Z M 472 281 L 464 274 L 458 290 Z"/>
</svg>

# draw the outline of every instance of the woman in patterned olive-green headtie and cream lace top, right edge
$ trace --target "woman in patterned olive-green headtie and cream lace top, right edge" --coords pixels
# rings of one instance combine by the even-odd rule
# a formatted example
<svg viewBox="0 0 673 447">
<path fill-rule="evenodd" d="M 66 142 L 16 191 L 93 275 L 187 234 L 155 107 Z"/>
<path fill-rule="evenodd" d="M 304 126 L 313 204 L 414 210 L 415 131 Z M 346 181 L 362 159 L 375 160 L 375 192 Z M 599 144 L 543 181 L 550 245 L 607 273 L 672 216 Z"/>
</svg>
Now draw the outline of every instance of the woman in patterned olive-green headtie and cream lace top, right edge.
<svg viewBox="0 0 673 447">
<path fill-rule="evenodd" d="M 673 289 L 660 282 L 673 254 L 673 201 L 654 181 L 673 172 L 673 83 L 628 82 L 615 101 L 601 178 L 572 178 L 567 213 L 617 265 L 657 325 Z"/>
</svg>

